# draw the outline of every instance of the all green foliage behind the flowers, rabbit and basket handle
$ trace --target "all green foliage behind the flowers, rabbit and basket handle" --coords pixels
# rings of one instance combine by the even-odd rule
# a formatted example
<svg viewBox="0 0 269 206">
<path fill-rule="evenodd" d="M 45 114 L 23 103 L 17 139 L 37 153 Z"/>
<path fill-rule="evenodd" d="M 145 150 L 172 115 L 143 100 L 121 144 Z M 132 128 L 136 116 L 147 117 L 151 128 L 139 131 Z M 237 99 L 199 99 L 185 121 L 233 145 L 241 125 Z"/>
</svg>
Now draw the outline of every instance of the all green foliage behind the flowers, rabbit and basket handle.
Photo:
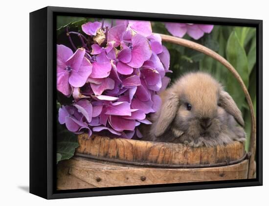
<svg viewBox="0 0 269 206">
<path fill-rule="evenodd" d="M 68 26 L 69 31 L 80 31 L 81 25 L 87 21 L 94 21 L 94 19 L 59 16 L 57 18 L 58 38 L 67 38 L 66 35 L 63 35 L 65 27 Z M 162 22 L 151 22 L 151 24 L 153 32 L 170 35 Z M 256 28 L 215 25 L 210 34 L 205 34 L 199 40 L 194 40 L 188 35 L 183 38 L 212 49 L 234 66 L 248 88 L 256 112 Z M 248 150 L 250 112 L 245 95 L 234 76 L 221 63 L 200 52 L 167 42 L 163 42 L 163 45 L 167 47 L 171 56 L 170 70 L 173 71 L 173 74 L 168 74 L 171 83 L 186 72 L 200 70 L 210 73 L 223 84 L 243 113 L 247 133 L 246 150 Z M 75 148 L 78 147 L 75 135 L 66 132 L 61 125 L 58 126 L 58 129 L 61 133 L 57 138 L 59 139 L 57 141 L 59 149 L 57 150 L 57 162 L 72 157 Z M 65 135 L 62 134 L 67 137 L 65 138 Z"/>
</svg>

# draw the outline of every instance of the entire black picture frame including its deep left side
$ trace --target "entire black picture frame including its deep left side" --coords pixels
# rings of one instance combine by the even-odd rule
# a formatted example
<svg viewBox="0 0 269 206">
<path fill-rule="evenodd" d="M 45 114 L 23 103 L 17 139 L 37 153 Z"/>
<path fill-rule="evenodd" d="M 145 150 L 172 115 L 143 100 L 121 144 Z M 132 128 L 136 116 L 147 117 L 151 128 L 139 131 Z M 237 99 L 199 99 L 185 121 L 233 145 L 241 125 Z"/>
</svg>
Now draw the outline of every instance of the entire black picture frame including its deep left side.
<svg viewBox="0 0 269 206">
<path fill-rule="evenodd" d="M 257 31 L 257 148 L 256 179 L 180 183 L 151 186 L 56 190 L 56 16 L 140 19 L 250 26 Z M 263 21 L 126 11 L 45 7 L 30 13 L 30 193 L 46 199 L 135 194 L 164 191 L 261 186 Z"/>
</svg>

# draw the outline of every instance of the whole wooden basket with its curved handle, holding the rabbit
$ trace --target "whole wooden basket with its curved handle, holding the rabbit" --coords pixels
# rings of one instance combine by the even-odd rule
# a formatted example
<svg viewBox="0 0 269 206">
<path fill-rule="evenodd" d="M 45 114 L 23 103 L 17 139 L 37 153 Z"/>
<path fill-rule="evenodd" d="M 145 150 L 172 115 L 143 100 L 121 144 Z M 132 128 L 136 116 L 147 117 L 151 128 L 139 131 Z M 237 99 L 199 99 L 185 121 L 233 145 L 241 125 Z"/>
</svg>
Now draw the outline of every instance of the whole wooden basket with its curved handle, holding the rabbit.
<svg viewBox="0 0 269 206">
<path fill-rule="evenodd" d="M 247 88 L 233 66 L 190 40 L 160 34 L 162 41 L 202 52 L 221 62 L 244 91 L 251 114 L 249 152 L 245 145 L 191 148 L 182 144 L 78 136 L 75 156 L 57 166 L 57 189 L 118 187 L 254 178 L 256 120 Z"/>
</svg>

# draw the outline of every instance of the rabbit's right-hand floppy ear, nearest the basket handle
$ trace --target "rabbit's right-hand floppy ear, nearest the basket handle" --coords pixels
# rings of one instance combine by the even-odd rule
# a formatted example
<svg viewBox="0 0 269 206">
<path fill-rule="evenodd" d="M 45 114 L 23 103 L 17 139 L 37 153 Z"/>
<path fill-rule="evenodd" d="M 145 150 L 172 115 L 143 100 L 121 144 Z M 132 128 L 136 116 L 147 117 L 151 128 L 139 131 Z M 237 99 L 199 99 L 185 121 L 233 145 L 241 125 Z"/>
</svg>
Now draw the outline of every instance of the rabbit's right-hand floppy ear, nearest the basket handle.
<svg viewBox="0 0 269 206">
<path fill-rule="evenodd" d="M 230 94 L 222 90 L 220 92 L 219 103 L 221 104 L 221 107 L 224 108 L 226 112 L 228 112 L 235 118 L 238 124 L 244 127 L 245 123 L 242 117 L 242 113 L 238 109 L 236 103 L 234 102 Z"/>
</svg>

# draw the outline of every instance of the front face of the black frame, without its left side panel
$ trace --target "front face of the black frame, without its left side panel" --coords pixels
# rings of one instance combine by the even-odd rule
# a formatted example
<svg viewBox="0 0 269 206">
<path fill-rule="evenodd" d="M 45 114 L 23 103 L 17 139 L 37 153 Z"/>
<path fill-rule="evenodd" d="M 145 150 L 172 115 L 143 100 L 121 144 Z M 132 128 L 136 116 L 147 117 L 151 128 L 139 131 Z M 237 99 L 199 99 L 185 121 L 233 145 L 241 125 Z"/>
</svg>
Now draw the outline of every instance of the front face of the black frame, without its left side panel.
<svg viewBox="0 0 269 206">
<path fill-rule="evenodd" d="M 67 7 L 46 7 L 47 9 L 47 199 L 59 198 L 73 198 L 73 197 L 90 197 L 90 196 L 105 196 L 105 195 L 119 195 L 119 194 L 136 194 L 136 193 L 151 193 L 151 192 L 167 192 L 167 191 L 181 191 L 181 190 L 196 190 L 196 189 L 210 189 L 210 188 L 224 188 L 224 187 L 248 187 L 261 186 L 263 184 L 262 171 L 262 20 L 255 19 L 231 19 L 231 18 L 217 18 L 217 17 L 199 17 L 186 15 L 171 15 L 171 14 L 155 14 L 155 13 L 141 13 L 141 12 L 125 12 L 125 11 L 110 11 L 110 10 L 96 10 L 96 9 L 80 9 Z M 257 177 L 256 179 L 246 180 L 232 180 L 232 181 L 214 181 L 214 182 L 199 182 L 199 183 L 181 183 L 181 184 L 167 184 L 154 186 L 128 186 L 128 187 L 106 187 L 98 188 L 96 191 L 85 191 L 81 189 L 70 191 L 56 191 L 55 186 L 55 144 L 53 144 L 53 133 L 55 131 L 53 125 L 53 118 L 55 117 L 55 107 L 53 103 L 54 89 L 53 86 L 53 52 L 55 52 L 55 32 L 53 28 L 53 15 L 56 13 L 72 13 L 76 15 L 109 15 L 121 18 L 150 18 L 150 19 L 185 19 L 185 20 L 199 20 L 202 23 L 216 22 L 218 24 L 234 24 L 234 25 L 251 25 L 257 28 L 257 59 L 258 59 L 258 75 L 257 75 Z M 54 33 L 53 33 L 54 32 Z M 30 121 L 32 121 L 30 119 Z M 87 189 L 86 189 L 87 190 Z"/>
</svg>

